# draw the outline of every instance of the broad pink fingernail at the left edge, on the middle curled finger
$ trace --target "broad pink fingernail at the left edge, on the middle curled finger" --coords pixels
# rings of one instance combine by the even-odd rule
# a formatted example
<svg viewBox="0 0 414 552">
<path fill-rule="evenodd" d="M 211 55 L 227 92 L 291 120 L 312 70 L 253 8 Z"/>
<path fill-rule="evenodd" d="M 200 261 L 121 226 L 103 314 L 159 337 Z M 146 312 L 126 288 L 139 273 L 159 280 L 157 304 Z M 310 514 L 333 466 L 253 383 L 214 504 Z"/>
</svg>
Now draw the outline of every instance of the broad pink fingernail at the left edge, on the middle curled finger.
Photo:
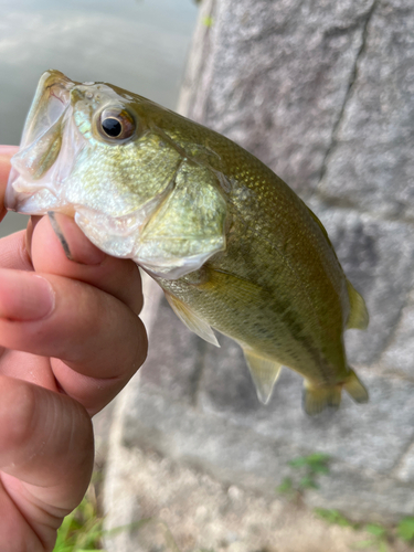
<svg viewBox="0 0 414 552">
<path fill-rule="evenodd" d="M 39 320 L 54 309 L 52 285 L 42 276 L 3 268 L 0 270 L 0 317 Z"/>
</svg>

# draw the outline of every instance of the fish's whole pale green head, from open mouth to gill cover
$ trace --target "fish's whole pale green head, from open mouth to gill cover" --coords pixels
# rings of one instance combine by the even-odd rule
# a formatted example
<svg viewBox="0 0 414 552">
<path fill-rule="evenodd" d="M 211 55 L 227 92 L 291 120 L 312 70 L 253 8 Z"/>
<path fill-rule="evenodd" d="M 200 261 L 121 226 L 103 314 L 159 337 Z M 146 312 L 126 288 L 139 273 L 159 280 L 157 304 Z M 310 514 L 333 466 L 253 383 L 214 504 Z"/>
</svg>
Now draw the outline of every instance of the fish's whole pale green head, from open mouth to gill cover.
<svg viewBox="0 0 414 552">
<path fill-rule="evenodd" d="M 142 104 L 162 110 L 105 83 L 44 73 L 11 160 L 6 206 L 70 214 L 105 253 L 177 279 L 224 251 L 226 206 L 214 172 L 189 161 Z M 120 140 L 103 132 L 114 113 L 131 123 Z"/>
</svg>

